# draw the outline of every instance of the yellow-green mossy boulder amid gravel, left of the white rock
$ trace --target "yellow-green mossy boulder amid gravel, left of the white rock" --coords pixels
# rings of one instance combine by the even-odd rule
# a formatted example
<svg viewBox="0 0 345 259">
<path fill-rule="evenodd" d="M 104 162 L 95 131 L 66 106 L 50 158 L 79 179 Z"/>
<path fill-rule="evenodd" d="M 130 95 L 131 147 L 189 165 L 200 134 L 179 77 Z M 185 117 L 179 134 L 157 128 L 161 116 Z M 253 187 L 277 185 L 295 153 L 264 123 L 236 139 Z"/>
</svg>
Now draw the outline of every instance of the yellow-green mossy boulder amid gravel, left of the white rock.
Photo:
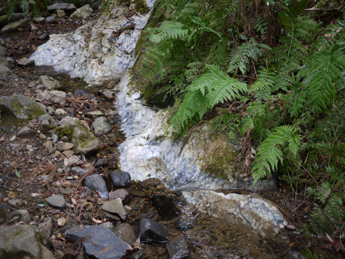
<svg viewBox="0 0 345 259">
<path fill-rule="evenodd" d="M 57 133 L 67 135 L 79 153 L 92 153 L 99 148 L 97 137 L 77 118 L 64 117 L 59 122 Z"/>
</svg>

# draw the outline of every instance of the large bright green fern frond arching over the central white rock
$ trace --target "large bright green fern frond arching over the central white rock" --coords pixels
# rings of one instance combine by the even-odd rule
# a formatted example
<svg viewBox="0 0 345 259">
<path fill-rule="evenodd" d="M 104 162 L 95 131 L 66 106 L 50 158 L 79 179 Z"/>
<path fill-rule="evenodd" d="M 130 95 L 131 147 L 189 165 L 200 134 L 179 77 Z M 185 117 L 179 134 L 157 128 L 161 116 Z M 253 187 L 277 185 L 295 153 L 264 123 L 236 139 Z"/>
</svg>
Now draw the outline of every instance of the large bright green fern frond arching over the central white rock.
<svg viewBox="0 0 345 259">
<path fill-rule="evenodd" d="M 209 73 L 201 75 L 186 88 L 184 101 L 172 117 L 170 126 L 173 126 L 177 134 L 184 130 L 190 119 L 200 120 L 209 108 L 247 91 L 245 83 L 228 77 L 217 66 L 206 67 Z"/>
</svg>

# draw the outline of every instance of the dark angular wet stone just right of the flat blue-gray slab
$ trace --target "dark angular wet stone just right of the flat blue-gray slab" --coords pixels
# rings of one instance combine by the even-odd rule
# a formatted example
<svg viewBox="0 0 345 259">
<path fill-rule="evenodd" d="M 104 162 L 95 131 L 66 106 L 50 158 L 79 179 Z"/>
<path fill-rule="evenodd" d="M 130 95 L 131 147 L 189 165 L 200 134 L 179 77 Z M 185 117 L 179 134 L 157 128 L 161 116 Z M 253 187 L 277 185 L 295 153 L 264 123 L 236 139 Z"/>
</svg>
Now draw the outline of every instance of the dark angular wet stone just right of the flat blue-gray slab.
<svg viewBox="0 0 345 259">
<path fill-rule="evenodd" d="M 140 240 L 143 242 L 167 242 L 168 234 L 164 226 L 147 218 L 141 218 L 139 223 Z"/>
</svg>

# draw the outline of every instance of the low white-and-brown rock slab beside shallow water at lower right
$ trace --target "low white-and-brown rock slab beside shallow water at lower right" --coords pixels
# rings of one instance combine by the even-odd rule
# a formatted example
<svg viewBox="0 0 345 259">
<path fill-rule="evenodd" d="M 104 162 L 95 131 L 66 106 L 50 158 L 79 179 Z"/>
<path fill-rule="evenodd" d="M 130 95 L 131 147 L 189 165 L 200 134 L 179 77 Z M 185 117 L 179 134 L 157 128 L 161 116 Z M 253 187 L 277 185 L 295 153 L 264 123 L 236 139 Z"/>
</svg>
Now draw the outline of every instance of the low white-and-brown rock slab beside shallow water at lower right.
<svg viewBox="0 0 345 259">
<path fill-rule="evenodd" d="M 247 225 L 261 236 L 268 236 L 273 240 L 279 230 L 287 224 L 277 207 L 256 193 L 225 195 L 207 190 L 183 193 L 187 202 L 195 204 L 201 211 L 207 211 L 230 222 Z"/>
</svg>

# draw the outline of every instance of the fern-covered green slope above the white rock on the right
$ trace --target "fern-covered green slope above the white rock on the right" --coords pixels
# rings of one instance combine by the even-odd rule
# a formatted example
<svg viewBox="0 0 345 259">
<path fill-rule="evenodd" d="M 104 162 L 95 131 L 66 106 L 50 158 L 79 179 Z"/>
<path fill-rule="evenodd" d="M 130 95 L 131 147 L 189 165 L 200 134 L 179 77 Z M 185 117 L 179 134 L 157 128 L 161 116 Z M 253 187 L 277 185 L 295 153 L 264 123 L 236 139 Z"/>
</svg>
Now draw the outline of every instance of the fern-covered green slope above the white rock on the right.
<svg viewBox="0 0 345 259">
<path fill-rule="evenodd" d="M 339 236 L 345 222 L 344 1 L 313 4 L 157 1 L 135 78 L 146 102 L 166 107 L 166 99 L 175 101 L 170 127 L 176 137 L 211 118 L 229 141 L 242 141 L 240 174 L 286 181 L 295 207 L 315 209 L 309 230 Z"/>
</svg>

